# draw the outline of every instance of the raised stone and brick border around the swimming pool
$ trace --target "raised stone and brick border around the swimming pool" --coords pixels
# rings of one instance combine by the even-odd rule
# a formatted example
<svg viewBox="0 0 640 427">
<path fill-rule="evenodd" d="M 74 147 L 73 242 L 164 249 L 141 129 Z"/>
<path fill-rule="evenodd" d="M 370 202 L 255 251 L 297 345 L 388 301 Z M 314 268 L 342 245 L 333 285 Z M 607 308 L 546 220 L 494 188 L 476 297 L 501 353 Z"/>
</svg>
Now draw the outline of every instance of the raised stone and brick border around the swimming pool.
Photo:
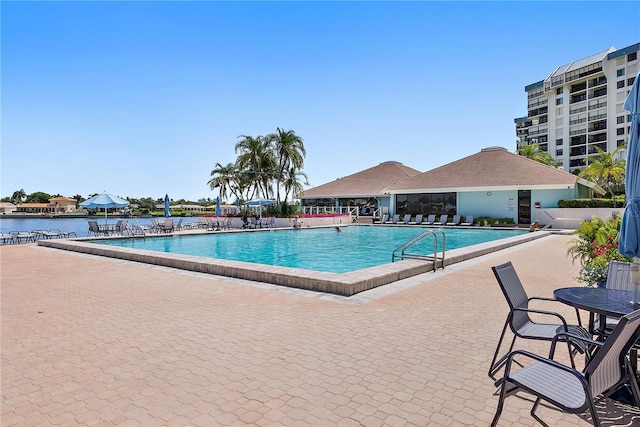
<svg viewBox="0 0 640 427">
<path fill-rule="evenodd" d="M 477 227 L 474 227 L 477 228 Z M 253 231 L 253 230 L 252 230 Z M 233 231 L 232 231 L 233 232 Z M 220 233 L 219 231 L 216 233 Z M 492 242 L 480 243 L 460 249 L 452 249 L 445 254 L 444 267 L 466 261 L 491 252 L 530 242 L 553 234 L 551 231 L 526 233 Z M 180 233 L 178 235 L 186 235 Z M 166 237 L 165 235 L 150 235 Z M 119 237 L 116 237 L 119 238 Z M 106 256 L 121 260 L 142 262 L 163 267 L 177 268 L 218 276 L 234 277 L 257 282 L 270 283 L 290 288 L 305 289 L 341 296 L 353 296 L 398 280 L 434 272 L 432 261 L 401 260 L 388 264 L 369 267 L 347 273 L 329 273 L 301 268 L 279 267 L 254 264 L 244 261 L 231 261 L 194 255 L 169 254 L 144 249 L 119 248 L 91 243 L 96 238 L 38 240 L 39 246 L 62 249 L 84 254 Z M 100 238 L 104 240 L 104 238 Z M 440 267 L 440 266 L 438 266 Z M 435 270 L 434 274 L 437 274 Z"/>
</svg>

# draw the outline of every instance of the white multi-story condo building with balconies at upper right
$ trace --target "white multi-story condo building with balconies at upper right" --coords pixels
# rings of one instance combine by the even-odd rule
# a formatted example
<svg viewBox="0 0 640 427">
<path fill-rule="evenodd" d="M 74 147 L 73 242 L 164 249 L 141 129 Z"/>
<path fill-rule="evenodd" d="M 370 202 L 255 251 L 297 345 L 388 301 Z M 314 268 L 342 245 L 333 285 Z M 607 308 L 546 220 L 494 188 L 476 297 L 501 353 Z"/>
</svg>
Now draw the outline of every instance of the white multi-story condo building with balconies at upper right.
<svg viewBox="0 0 640 427">
<path fill-rule="evenodd" d="M 640 70 L 639 50 L 640 43 L 612 47 L 525 86 L 527 116 L 514 120 L 517 149 L 538 144 L 573 172 L 589 164 L 595 147 L 611 152 L 625 144 L 631 117 L 622 105 Z"/>
</svg>

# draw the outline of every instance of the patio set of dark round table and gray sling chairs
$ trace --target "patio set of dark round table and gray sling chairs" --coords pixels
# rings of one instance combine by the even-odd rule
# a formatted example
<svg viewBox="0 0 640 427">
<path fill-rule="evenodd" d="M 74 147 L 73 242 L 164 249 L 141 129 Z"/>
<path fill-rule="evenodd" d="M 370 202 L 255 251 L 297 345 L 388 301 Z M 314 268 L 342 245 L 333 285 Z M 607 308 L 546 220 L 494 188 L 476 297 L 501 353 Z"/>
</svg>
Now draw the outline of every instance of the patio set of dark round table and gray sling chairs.
<svg viewBox="0 0 640 427">
<path fill-rule="evenodd" d="M 605 288 L 561 288 L 554 291 L 555 298 L 528 297 L 510 262 L 492 268 L 510 308 L 489 368 L 489 377 L 494 380 L 503 370 L 495 381 L 499 400 L 492 426 L 497 425 L 506 398 L 518 392 L 533 395 L 531 416 L 543 425 L 536 414 L 542 401 L 565 412 L 588 414 L 596 426 L 600 425 L 596 403 L 602 398 L 614 397 L 640 406 L 640 304 L 631 290 L 636 286 L 631 282 L 631 268 L 630 263 L 612 261 Z M 573 307 L 577 324 L 555 311 L 531 308 L 529 303 L 534 300 Z M 583 326 L 579 310 L 589 313 L 588 325 Z M 543 318 L 548 323 L 539 321 Z M 513 339 L 508 351 L 498 358 L 507 329 Z M 523 349 L 514 351 L 517 338 L 549 341 L 548 357 Z M 567 347 L 570 366 L 554 360 L 558 344 Z M 585 358 L 582 370 L 576 368 L 577 354 Z"/>
</svg>

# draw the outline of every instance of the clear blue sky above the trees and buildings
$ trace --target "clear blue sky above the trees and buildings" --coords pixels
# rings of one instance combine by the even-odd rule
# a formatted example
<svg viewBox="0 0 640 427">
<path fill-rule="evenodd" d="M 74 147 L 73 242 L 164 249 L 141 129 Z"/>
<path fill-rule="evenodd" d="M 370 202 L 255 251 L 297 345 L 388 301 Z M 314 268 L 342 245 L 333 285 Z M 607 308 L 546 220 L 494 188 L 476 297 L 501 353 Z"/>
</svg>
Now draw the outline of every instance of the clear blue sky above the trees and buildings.
<svg viewBox="0 0 640 427">
<path fill-rule="evenodd" d="M 640 42 L 640 2 L 11 2 L 0 195 L 197 200 L 239 135 L 304 139 L 311 186 L 515 150 L 524 87 Z"/>
</svg>

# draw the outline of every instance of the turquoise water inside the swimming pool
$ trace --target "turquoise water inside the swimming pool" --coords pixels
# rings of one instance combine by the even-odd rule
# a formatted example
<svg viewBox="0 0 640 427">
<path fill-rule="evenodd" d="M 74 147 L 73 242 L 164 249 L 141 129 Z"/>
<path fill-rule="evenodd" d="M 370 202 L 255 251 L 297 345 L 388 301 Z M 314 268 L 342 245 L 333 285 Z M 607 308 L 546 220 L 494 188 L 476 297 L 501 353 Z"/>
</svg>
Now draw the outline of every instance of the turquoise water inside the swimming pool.
<svg viewBox="0 0 640 427">
<path fill-rule="evenodd" d="M 105 245 L 196 255 L 281 267 L 345 273 L 391 262 L 393 250 L 427 230 L 424 227 L 342 227 L 247 233 L 174 235 L 147 239 L 100 240 Z M 517 236 L 520 230 L 443 229 L 446 249 Z M 412 253 L 433 253 L 433 239 Z"/>
</svg>

